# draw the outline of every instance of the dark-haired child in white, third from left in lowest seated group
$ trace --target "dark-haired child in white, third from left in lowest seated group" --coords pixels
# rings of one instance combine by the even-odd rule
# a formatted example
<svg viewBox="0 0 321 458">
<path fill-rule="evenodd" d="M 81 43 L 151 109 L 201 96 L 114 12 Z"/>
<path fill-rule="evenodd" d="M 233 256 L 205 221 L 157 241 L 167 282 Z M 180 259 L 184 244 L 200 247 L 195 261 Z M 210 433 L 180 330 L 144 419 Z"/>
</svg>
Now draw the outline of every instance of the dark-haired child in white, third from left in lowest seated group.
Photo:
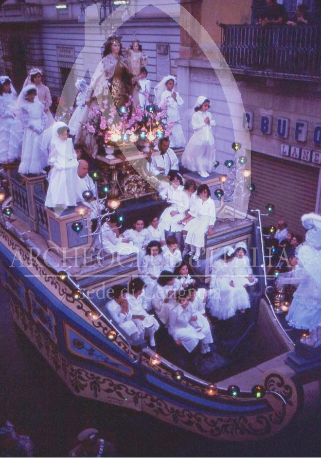
<svg viewBox="0 0 321 458">
<path fill-rule="evenodd" d="M 168 326 L 169 313 L 176 306 L 179 282 L 169 270 L 162 270 L 153 290 L 152 306 L 160 321 Z"/>
</svg>

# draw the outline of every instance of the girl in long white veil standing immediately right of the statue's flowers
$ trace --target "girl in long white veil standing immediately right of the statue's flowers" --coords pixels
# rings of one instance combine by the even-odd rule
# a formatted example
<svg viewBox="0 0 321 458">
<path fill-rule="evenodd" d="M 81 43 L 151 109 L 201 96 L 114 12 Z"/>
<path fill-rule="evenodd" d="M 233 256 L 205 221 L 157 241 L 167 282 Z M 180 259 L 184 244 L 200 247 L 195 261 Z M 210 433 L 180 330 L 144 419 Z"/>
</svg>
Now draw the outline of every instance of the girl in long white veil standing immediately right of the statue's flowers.
<svg viewBox="0 0 321 458">
<path fill-rule="evenodd" d="M 180 148 L 186 145 L 185 136 L 180 123 L 180 115 L 178 107 L 182 106 L 184 101 L 175 90 L 175 76 L 167 75 L 154 88 L 155 102 L 161 106 L 167 102 L 167 119 L 166 123 L 174 123 L 172 133 L 169 136 L 170 147 Z"/>
</svg>

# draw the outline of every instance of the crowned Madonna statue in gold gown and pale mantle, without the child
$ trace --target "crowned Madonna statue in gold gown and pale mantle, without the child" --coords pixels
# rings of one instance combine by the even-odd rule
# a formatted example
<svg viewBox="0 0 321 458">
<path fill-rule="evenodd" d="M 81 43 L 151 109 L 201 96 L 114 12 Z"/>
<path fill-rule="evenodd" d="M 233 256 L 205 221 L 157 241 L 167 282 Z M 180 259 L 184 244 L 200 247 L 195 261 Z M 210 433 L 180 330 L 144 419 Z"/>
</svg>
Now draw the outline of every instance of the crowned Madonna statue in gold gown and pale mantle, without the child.
<svg viewBox="0 0 321 458">
<path fill-rule="evenodd" d="M 86 98 L 86 107 L 75 141 L 83 143 L 93 157 L 98 151 L 97 139 L 84 128 L 97 117 L 97 109 L 108 106 L 113 117 L 115 106 L 130 107 L 133 90 L 138 81 L 128 70 L 127 58 L 122 54 L 121 36 L 111 35 L 105 45 L 103 58 L 91 78 Z M 111 97 L 110 97 L 111 95 Z M 98 122 L 98 119 L 97 119 Z"/>
</svg>

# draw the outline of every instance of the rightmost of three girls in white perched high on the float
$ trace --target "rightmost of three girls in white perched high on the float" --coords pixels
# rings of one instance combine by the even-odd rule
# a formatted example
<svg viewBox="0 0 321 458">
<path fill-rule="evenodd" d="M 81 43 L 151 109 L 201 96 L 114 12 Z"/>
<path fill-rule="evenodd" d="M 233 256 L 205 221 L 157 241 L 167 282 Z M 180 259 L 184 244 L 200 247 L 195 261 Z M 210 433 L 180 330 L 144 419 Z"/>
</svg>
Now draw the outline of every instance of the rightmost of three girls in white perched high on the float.
<svg viewBox="0 0 321 458">
<path fill-rule="evenodd" d="M 208 232 L 209 235 L 214 233 L 216 220 L 215 204 L 207 184 L 198 186 L 196 194 L 195 205 L 189 210 L 193 218 L 186 223 L 183 233 L 183 236 L 186 233 L 185 243 L 191 246 L 191 253 L 195 253 L 193 255 L 195 261 L 199 259 L 201 248 L 205 246 L 205 233 Z"/>
</svg>

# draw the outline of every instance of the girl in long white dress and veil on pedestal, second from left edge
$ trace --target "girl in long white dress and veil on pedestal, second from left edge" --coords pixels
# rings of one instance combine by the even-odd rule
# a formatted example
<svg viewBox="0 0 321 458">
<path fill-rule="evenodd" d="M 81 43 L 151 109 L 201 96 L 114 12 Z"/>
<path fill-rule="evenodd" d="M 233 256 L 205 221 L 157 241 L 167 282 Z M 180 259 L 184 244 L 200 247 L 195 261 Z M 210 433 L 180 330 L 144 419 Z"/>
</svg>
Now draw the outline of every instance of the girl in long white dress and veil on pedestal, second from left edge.
<svg viewBox="0 0 321 458">
<path fill-rule="evenodd" d="M 22 154 L 18 172 L 20 174 L 42 174 L 48 164 L 37 142 L 39 134 L 44 131 L 47 123 L 43 105 L 36 100 L 36 86 L 30 85 L 22 89 L 17 106 L 23 125 Z"/>
</svg>

